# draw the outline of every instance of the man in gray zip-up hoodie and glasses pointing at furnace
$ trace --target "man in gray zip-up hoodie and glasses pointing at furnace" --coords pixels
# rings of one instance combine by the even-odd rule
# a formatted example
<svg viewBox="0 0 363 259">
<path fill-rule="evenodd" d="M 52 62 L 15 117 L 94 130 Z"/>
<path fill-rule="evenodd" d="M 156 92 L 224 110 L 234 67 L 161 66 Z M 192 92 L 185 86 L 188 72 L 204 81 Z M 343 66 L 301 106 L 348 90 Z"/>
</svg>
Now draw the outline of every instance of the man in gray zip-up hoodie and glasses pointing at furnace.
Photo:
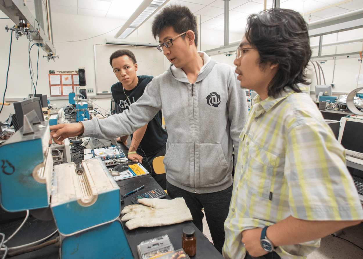
<svg viewBox="0 0 363 259">
<path fill-rule="evenodd" d="M 113 138 L 144 126 L 162 108 L 168 141 L 164 165 L 171 198 L 183 197 L 202 230 L 204 208 L 214 246 L 221 252 L 223 224 L 232 195 L 232 152 L 248 113 L 245 90 L 234 68 L 197 51 L 197 23 L 180 5 L 162 9 L 152 24 L 158 49 L 171 62 L 130 109 L 99 120 L 52 126 L 55 143 L 65 138 Z M 237 155 L 237 154 L 236 154 Z"/>
</svg>

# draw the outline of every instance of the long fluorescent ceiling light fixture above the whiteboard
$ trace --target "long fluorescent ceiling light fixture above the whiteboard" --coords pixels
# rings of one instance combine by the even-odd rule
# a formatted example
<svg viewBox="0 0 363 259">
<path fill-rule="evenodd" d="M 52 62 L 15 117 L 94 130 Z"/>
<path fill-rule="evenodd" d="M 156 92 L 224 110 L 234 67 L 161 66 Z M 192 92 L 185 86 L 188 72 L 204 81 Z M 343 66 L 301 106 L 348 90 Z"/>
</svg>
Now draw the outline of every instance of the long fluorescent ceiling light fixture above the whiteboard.
<svg viewBox="0 0 363 259">
<path fill-rule="evenodd" d="M 116 33 L 115 38 L 124 39 L 139 28 L 150 16 L 163 7 L 169 0 L 144 0 L 129 20 Z"/>
</svg>

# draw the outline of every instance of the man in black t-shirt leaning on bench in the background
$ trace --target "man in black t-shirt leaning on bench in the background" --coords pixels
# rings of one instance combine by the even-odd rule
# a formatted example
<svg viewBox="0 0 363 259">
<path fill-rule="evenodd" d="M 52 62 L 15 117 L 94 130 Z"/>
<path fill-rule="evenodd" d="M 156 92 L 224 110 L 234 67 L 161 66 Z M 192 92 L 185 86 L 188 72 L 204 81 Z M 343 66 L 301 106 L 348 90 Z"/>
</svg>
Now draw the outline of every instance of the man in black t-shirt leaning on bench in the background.
<svg viewBox="0 0 363 259">
<path fill-rule="evenodd" d="M 119 80 L 111 87 L 112 96 L 119 110 L 123 112 L 140 98 L 152 77 L 136 75 L 138 67 L 135 55 L 127 49 L 114 52 L 110 57 L 110 65 Z M 117 140 L 127 145 L 127 137 L 123 136 Z M 127 155 L 129 160 L 142 163 L 164 190 L 166 189 L 166 176 L 154 172 L 152 160 L 157 156 L 165 155 L 167 138 L 168 134 L 162 127 L 162 111 L 160 110 L 149 123 L 131 135 L 132 141 Z"/>
</svg>

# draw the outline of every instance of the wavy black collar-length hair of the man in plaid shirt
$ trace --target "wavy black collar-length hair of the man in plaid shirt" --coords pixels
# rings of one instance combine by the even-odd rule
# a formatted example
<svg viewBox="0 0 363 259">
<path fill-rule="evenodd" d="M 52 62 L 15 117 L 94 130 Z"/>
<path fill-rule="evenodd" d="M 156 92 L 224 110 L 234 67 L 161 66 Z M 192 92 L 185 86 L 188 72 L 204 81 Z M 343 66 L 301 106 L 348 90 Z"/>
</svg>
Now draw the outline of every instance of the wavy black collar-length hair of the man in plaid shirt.
<svg viewBox="0 0 363 259">
<path fill-rule="evenodd" d="M 268 85 L 268 95 L 276 98 L 285 87 L 297 93 L 298 83 L 308 85 L 304 70 L 310 60 L 308 27 L 293 10 L 273 8 L 247 18 L 245 37 L 257 48 L 260 65 L 278 63 L 278 71 Z"/>
</svg>

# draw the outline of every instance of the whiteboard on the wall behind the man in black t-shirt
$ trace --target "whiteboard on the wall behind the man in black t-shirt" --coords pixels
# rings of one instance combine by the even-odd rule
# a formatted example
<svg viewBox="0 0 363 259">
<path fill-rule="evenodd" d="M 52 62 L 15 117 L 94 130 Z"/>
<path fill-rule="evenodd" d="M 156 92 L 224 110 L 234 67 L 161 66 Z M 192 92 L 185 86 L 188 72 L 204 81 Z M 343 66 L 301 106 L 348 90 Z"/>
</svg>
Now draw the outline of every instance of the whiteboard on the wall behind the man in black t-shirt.
<svg viewBox="0 0 363 259">
<path fill-rule="evenodd" d="M 128 49 L 135 54 L 138 64 L 137 75 L 156 77 L 164 73 L 164 54 L 156 47 L 134 47 L 125 45 L 94 45 L 96 93 L 111 93 L 111 86 L 118 82 L 110 65 L 110 56 L 118 49 Z M 105 94 L 105 93 L 103 93 Z"/>
</svg>

